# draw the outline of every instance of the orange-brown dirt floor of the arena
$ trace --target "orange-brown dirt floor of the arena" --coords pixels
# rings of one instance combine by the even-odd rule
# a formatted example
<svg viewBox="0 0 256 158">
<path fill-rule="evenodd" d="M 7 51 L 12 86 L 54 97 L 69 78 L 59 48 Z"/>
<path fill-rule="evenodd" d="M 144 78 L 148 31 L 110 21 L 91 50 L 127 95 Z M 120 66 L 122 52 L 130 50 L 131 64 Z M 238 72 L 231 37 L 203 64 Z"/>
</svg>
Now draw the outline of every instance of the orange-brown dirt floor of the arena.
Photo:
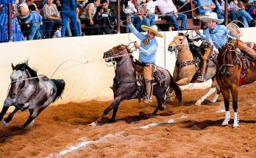
<svg viewBox="0 0 256 158">
<path fill-rule="evenodd" d="M 206 90 L 183 90 L 183 104 L 168 103 L 155 117 L 152 104 L 124 101 L 115 123 L 88 126 L 111 101 L 47 107 L 35 126 L 22 129 L 29 112 L 18 112 L 0 127 L 0 157 L 256 157 L 256 83 L 240 87 L 240 128 L 221 126 L 222 96 L 196 106 Z M 232 104 L 230 114 L 233 118 Z M 4 118 L 7 115 L 4 116 Z"/>
</svg>

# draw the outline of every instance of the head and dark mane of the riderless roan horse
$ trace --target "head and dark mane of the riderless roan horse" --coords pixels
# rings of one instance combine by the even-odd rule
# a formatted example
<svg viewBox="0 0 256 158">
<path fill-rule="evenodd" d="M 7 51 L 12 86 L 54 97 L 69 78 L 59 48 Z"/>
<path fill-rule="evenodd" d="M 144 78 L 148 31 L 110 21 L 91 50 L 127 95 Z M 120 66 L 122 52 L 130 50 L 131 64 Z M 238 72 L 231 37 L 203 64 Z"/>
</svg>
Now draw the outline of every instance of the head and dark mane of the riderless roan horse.
<svg viewBox="0 0 256 158">
<path fill-rule="evenodd" d="M 12 63 L 12 68 L 13 73 L 10 76 L 11 87 L 8 96 L 10 96 L 10 98 L 15 98 L 17 93 L 24 87 L 26 79 L 38 75 L 36 71 L 32 70 L 32 68 L 29 68 L 28 61 L 15 66 Z M 38 78 L 36 78 L 35 80 L 38 81 Z"/>
</svg>

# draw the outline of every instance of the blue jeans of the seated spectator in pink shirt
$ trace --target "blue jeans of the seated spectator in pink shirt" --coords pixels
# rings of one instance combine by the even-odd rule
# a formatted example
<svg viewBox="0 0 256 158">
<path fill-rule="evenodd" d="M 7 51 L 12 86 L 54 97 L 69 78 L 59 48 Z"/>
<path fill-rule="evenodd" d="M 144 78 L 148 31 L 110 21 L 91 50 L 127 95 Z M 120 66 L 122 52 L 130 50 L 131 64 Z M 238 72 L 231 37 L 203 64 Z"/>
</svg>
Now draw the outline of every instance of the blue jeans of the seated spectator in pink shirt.
<svg viewBox="0 0 256 158">
<path fill-rule="evenodd" d="M 187 15 L 183 13 L 178 14 L 178 18 L 174 16 L 174 14 L 170 13 L 164 17 L 166 21 L 171 21 L 174 24 L 175 30 L 186 30 L 187 29 Z M 178 20 L 182 20 L 181 28 L 179 28 Z"/>
</svg>

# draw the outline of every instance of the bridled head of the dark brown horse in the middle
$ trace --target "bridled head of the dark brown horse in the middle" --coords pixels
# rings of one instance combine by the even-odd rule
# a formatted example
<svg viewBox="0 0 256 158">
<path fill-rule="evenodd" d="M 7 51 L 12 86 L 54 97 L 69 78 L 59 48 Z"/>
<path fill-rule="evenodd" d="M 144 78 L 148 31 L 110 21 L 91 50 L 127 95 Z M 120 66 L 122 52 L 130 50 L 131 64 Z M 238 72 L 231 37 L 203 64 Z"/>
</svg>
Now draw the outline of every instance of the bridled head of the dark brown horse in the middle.
<svg viewBox="0 0 256 158">
<path fill-rule="evenodd" d="M 110 49 L 109 51 L 104 52 L 103 59 L 105 62 L 119 62 L 124 57 L 124 54 L 128 54 L 126 45 L 118 45 Z"/>
</svg>

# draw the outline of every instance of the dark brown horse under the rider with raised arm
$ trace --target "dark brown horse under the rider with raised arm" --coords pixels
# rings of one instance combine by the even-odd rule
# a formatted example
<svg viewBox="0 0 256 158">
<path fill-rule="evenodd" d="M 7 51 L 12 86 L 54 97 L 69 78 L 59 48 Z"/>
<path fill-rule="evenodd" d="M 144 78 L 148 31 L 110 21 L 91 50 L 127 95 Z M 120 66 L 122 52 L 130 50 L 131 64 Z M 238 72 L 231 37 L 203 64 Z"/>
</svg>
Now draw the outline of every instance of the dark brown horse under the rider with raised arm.
<svg viewBox="0 0 256 158">
<path fill-rule="evenodd" d="M 138 92 L 138 85 L 136 79 L 136 72 L 135 72 L 135 62 L 133 61 L 132 52 L 129 51 L 126 45 L 119 45 L 113 47 L 109 51 L 104 53 L 103 58 L 106 62 L 115 62 L 115 79 L 113 83 L 113 93 L 114 93 L 114 101 L 110 104 L 110 107 L 104 110 L 103 114 L 96 119 L 93 123 L 90 123 L 90 126 L 96 126 L 97 123 L 102 121 L 104 115 L 107 115 L 110 110 L 113 109 L 113 115 L 110 119 L 110 122 L 115 121 L 115 115 L 118 111 L 118 106 L 121 101 L 129 100 L 132 98 L 136 98 L 134 96 L 136 92 Z M 113 57 L 113 58 L 111 58 Z M 166 76 L 166 80 L 164 84 L 160 85 L 157 83 L 153 87 L 153 95 L 156 96 L 158 105 L 156 109 L 154 109 L 153 115 L 157 113 L 158 109 L 163 109 L 166 93 L 168 93 L 169 88 L 172 88 L 178 98 L 179 104 L 182 101 L 182 93 L 179 89 L 179 86 L 174 82 L 174 78 L 171 74 L 164 68 L 159 68 L 160 71 L 164 73 Z"/>
</svg>

